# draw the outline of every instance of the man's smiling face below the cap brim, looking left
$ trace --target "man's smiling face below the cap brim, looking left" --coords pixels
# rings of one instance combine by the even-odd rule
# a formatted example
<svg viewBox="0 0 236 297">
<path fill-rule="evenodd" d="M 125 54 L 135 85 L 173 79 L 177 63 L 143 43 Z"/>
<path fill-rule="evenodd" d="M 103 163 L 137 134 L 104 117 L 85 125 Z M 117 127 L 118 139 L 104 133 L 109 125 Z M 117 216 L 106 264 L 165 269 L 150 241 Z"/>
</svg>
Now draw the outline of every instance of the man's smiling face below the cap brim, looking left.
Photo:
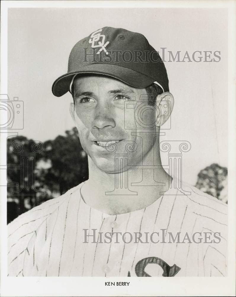
<svg viewBox="0 0 236 297">
<path fill-rule="evenodd" d="M 125 164 L 118 164 L 115 170 L 115 154 L 129 155 L 129 165 L 139 165 L 152 149 L 153 134 L 136 135 L 140 129 L 135 125 L 134 108 L 125 111 L 127 103 L 135 103 L 131 100 L 140 100 L 140 96 L 147 99 L 145 89 L 133 88 L 105 76 L 85 76 L 74 81 L 75 108 L 72 116 L 80 142 L 84 151 L 102 171 L 114 173 L 125 170 Z M 144 104 L 147 108 L 140 115 L 142 121 L 155 122 L 155 108 Z M 131 146 L 127 146 L 128 143 Z M 129 152 L 132 151 L 132 145 L 135 151 Z M 115 146 L 116 151 L 113 150 Z"/>
</svg>

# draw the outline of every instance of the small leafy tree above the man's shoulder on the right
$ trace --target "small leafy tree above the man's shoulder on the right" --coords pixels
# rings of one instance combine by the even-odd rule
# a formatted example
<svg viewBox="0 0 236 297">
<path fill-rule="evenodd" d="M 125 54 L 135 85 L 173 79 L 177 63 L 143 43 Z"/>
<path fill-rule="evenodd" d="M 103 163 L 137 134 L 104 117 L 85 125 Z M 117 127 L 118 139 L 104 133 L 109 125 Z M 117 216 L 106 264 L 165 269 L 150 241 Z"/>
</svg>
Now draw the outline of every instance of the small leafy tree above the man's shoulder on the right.
<svg viewBox="0 0 236 297">
<path fill-rule="evenodd" d="M 227 176 L 226 167 L 213 163 L 198 173 L 195 187 L 227 203 Z"/>
</svg>

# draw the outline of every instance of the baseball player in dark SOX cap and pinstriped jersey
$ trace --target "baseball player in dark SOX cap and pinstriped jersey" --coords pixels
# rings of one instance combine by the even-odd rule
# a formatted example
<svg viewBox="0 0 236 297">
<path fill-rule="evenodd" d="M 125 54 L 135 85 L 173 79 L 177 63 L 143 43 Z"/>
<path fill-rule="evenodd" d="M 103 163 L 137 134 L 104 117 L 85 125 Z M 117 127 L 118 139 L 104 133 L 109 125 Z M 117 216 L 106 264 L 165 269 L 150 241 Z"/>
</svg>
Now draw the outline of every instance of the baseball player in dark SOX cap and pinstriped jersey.
<svg viewBox="0 0 236 297">
<path fill-rule="evenodd" d="M 80 40 L 52 86 L 68 91 L 89 179 L 8 225 L 8 275 L 226 276 L 227 205 L 161 165 L 174 99 L 147 39 L 104 27 Z"/>
</svg>

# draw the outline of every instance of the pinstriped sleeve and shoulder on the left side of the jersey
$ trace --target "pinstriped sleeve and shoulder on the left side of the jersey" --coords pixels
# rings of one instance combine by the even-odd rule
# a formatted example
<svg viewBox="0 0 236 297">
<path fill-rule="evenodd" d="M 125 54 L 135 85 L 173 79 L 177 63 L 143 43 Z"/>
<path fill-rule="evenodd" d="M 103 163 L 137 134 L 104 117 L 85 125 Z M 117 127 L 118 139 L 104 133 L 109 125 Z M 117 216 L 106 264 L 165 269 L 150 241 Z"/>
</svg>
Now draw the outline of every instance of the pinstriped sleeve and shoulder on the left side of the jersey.
<svg viewBox="0 0 236 297">
<path fill-rule="evenodd" d="M 41 233 L 41 229 L 45 228 L 44 225 L 54 221 L 53 218 L 57 215 L 59 208 L 64 211 L 68 205 L 67 201 L 78 199 L 80 187 L 81 184 L 58 198 L 32 208 L 8 224 L 9 275 L 15 275 L 18 270 L 20 271 L 29 242 L 35 238 L 35 235 Z"/>
</svg>

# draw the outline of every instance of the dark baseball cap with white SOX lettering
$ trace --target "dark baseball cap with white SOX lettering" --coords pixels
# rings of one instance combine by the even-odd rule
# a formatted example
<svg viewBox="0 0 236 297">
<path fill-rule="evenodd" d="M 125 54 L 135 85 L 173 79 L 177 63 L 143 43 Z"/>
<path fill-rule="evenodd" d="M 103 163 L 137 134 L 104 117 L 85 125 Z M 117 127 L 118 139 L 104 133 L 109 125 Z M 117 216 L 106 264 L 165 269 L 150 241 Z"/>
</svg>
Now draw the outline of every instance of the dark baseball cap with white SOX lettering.
<svg viewBox="0 0 236 297">
<path fill-rule="evenodd" d="M 169 91 L 165 65 L 144 35 L 121 28 L 104 27 L 78 41 L 72 48 L 68 72 L 57 78 L 52 93 L 71 91 L 76 75 L 107 75 L 136 87 L 158 84 Z"/>
</svg>

